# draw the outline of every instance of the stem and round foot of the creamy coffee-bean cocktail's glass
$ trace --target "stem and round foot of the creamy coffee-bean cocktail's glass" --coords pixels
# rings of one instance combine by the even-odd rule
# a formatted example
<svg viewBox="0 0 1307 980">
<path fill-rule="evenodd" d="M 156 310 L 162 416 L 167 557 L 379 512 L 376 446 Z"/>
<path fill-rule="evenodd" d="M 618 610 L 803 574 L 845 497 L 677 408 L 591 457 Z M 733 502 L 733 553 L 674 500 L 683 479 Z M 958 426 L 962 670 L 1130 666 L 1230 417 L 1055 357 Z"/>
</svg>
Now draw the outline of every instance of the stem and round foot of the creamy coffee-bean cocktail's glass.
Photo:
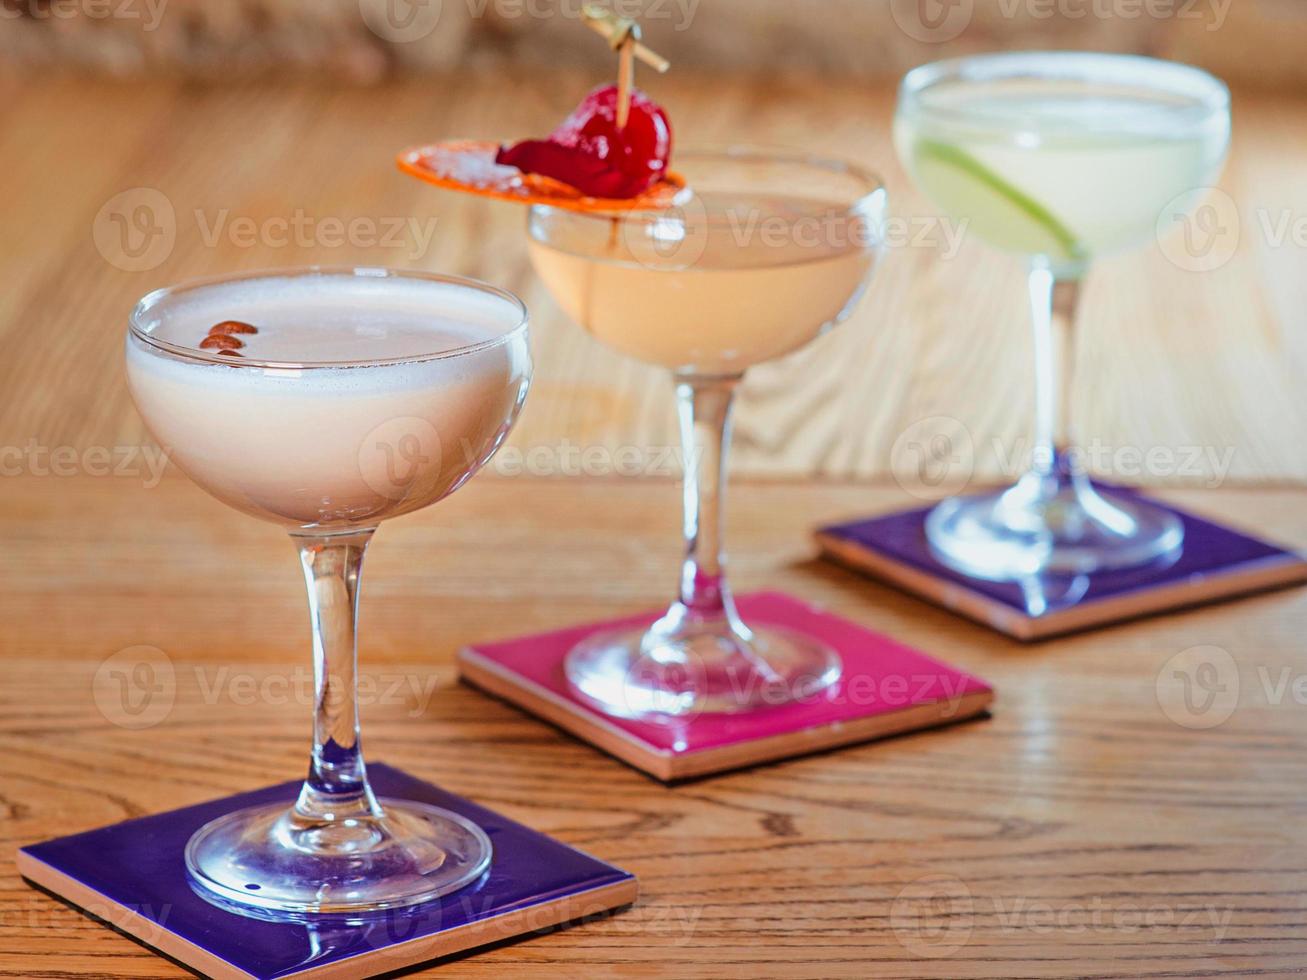
<svg viewBox="0 0 1307 980">
<path fill-rule="evenodd" d="M 465 817 L 367 784 L 358 724 L 358 595 L 374 528 L 291 533 L 314 638 L 314 746 L 295 802 L 235 810 L 201 827 L 187 870 L 209 900 L 269 919 L 359 915 L 430 902 L 490 864 Z"/>
</svg>

